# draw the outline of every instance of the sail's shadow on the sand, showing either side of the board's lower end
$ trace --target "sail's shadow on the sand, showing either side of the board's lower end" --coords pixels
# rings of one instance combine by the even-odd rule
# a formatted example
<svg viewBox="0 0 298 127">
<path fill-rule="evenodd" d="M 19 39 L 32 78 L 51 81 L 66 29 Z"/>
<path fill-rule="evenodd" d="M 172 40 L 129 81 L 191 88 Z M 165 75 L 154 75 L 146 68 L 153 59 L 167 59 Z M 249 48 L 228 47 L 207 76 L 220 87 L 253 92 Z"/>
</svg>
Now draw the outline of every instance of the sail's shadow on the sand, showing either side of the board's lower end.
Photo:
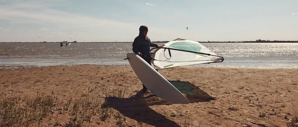
<svg viewBox="0 0 298 127">
<path fill-rule="evenodd" d="M 188 100 L 189 103 L 198 102 L 209 102 L 216 100 L 209 94 L 201 90 L 199 87 L 187 81 L 169 81 L 173 86 L 175 86 Z M 144 95 L 146 102 L 150 105 L 171 105 L 172 102 L 165 101 L 153 94 Z"/>
</svg>

